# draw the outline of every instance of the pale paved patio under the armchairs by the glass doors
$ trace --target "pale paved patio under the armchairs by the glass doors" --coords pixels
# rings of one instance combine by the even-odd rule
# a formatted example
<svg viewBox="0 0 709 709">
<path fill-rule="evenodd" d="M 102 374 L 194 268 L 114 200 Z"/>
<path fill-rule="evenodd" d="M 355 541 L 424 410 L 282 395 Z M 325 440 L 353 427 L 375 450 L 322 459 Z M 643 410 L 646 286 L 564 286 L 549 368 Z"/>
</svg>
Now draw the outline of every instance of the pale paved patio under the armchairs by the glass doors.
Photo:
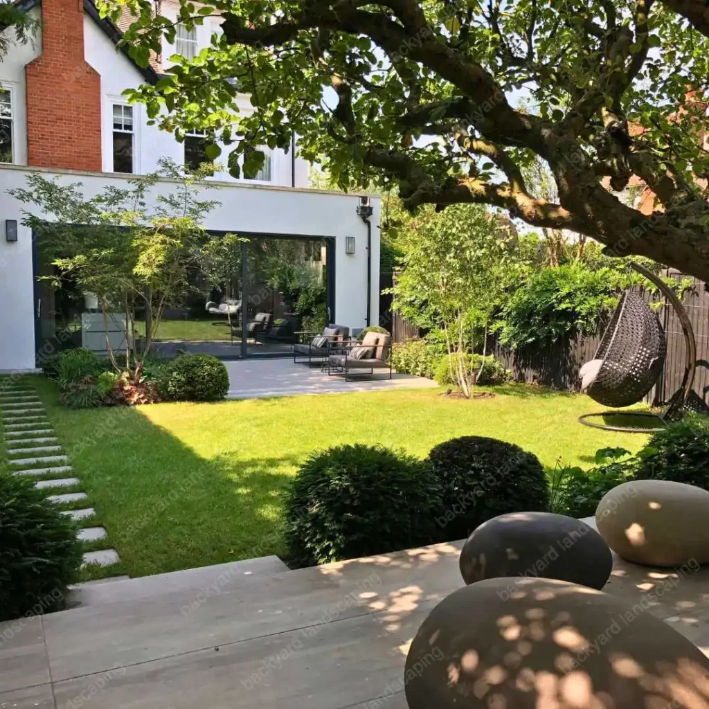
<svg viewBox="0 0 709 709">
<path fill-rule="evenodd" d="M 383 391 L 386 389 L 435 389 L 435 381 L 422 376 L 397 374 L 389 379 L 376 372 L 372 379 L 345 381 L 344 376 L 328 376 L 320 367 L 294 364 L 293 359 L 246 359 L 224 362 L 229 372 L 228 398 L 265 398 L 294 394 L 345 393 L 348 391 Z"/>
</svg>

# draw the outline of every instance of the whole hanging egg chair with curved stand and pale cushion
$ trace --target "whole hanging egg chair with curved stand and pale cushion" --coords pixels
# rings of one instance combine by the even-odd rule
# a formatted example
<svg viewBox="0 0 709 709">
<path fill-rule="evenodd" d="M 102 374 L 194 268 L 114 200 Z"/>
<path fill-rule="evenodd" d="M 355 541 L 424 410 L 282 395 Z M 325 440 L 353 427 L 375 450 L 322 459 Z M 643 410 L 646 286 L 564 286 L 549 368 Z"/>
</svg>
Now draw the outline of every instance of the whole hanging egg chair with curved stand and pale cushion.
<svg viewBox="0 0 709 709">
<path fill-rule="evenodd" d="M 668 420 L 679 418 L 684 401 L 689 395 L 696 366 L 696 342 L 691 322 L 679 298 L 657 275 L 640 266 L 630 264 L 637 272 L 652 281 L 674 306 L 687 342 L 687 362 L 682 386 L 669 401 L 664 416 L 642 411 L 620 411 L 624 416 Z M 642 401 L 662 373 L 666 342 L 664 330 L 657 315 L 649 305 L 632 291 L 625 291 L 618 307 L 603 333 L 601 344 L 590 362 L 581 367 L 581 389 L 594 401 L 613 408 L 622 408 Z M 608 412 L 610 413 L 610 412 Z M 594 418 L 608 413 L 587 413 L 579 418 L 581 423 L 606 430 L 627 432 L 652 432 L 655 428 L 619 427 L 596 423 Z"/>
</svg>

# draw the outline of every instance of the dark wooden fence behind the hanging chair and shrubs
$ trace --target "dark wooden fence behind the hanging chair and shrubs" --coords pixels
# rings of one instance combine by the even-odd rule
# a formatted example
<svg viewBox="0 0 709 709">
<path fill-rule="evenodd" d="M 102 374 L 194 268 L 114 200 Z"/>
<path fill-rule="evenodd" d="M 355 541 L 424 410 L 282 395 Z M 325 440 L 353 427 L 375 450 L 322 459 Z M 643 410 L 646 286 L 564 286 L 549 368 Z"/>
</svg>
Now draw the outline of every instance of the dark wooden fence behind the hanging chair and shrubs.
<svg viewBox="0 0 709 709">
<path fill-rule="evenodd" d="M 676 271 L 666 271 L 664 275 L 677 280 L 688 278 L 686 274 Z M 389 279 L 391 282 L 391 275 L 389 275 Z M 669 303 L 665 303 L 664 298 L 661 298 L 659 294 L 651 296 L 648 291 L 640 292 L 647 301 L 662 300 L 657 314 L 665 331 L 667 355 L 664 371 L 646 397 L 648 403 L 660 403 L 669 400 L 672 394 L 679 389 L 684 374 L 686 345 L 674 308 Z M 389 298 L 388 308 L 390 309 L 391 296 Z M 692 286 L 684 294 L 682 303 L 691 320 L 697 342 L 694 391 L 706 403 L 709 403 L 709 291 L 706 284 L 693 279 Z M 384 313 L 383 310 L 380 312 Z M 388 324 L 384 325 L 391 330 L 394 342 L 405 342 L 418 335 L 418 330 L 412 328 L 410 323 L 404 323 L 401 320 L 394 327 L 395 321 L 396 314 L 394 318 L 391 318 L 391 327 Z M 605 323 L 601 323 L 598 331 L 591 336 L 579 336 L 573 340 L 555 342 L 547 347 L 535 346 L 512 351 L 499 343 L 493 343 L 492 350 L 495 356 L 503 362 L 506 369 L 511 370 L 515 381 L 542 384 L 564 391 L 579 391 L 581 386 L 579 369 L 588 360 L 593 359 L 604 329 Z"/>
</svg>

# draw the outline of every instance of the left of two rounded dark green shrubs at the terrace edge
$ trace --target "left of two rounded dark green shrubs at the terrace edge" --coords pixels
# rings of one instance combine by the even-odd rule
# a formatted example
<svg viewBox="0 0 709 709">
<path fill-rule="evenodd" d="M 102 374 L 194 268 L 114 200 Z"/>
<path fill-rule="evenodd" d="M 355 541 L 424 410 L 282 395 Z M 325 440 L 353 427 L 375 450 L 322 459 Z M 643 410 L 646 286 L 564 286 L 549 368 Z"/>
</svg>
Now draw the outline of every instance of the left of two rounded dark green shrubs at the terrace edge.
<svg viewBox="0 0 709 709">
<path fill-rule="evenodd" d="M 286 501 L 289 558 L 319 564 L 428 544 L 439 505 L 430 469 L 414 458 L 365 445 L 313 454 Z"/>
</svg>

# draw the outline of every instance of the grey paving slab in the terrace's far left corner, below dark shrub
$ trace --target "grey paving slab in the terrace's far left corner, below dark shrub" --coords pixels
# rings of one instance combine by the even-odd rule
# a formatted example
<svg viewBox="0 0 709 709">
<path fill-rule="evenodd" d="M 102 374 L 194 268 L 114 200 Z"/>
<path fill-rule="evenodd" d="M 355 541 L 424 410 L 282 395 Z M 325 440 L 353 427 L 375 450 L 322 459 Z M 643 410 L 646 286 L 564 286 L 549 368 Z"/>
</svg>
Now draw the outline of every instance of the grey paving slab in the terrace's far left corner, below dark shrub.
<svg viewBox="0 0 709 709">
<path fill-rule="evenodd" d="M 39 616 L 0 623 L 0 706 L 3 692 L 49 681 Z"/>
</svg>

